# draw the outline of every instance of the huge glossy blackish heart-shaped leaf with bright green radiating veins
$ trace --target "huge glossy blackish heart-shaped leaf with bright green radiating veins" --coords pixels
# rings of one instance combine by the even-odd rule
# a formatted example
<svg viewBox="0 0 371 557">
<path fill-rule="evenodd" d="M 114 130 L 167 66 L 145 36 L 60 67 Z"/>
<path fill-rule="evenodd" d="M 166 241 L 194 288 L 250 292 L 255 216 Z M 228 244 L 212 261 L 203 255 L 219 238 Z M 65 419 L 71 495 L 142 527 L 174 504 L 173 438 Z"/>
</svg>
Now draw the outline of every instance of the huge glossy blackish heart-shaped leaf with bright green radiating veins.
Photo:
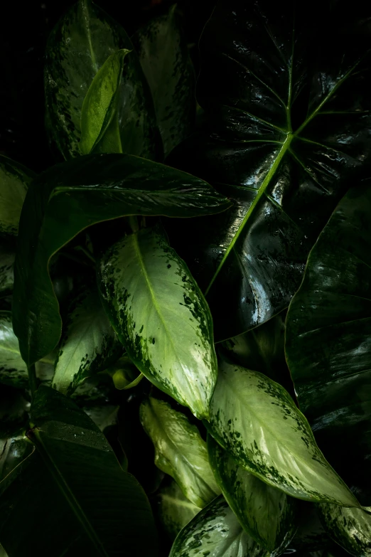
<svg viewBox="0 0 371 557">
<path fill-rule="evenodd" d="M 289 305 L 346 179 L 371 159 L 371 28 L 361 2 L 222 0 L 201 41 L 207 122 L 173 164 L 234 210 L 170 235 L 205 292 L 215 338 Z M 178 237 L 178 243 L 175 239 Z"/>
</svg>

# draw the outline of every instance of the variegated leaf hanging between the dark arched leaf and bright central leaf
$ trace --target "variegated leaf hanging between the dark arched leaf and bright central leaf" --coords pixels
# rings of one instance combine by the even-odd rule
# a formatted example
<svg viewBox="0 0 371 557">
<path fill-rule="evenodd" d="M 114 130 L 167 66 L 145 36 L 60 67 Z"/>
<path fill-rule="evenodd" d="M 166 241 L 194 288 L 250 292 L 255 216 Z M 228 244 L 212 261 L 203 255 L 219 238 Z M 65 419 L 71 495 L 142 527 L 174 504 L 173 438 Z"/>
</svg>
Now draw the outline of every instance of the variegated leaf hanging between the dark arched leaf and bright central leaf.
<svg viewBox="0 0 371 557">
<path fill-rule="evenodd" d="M 87 377 L 117 360 L 122 345 L 104 312 L 96 287 L 85 287 L 72 300 L 64 328 L 53 387 L 70 395 Z"/>
</svg>

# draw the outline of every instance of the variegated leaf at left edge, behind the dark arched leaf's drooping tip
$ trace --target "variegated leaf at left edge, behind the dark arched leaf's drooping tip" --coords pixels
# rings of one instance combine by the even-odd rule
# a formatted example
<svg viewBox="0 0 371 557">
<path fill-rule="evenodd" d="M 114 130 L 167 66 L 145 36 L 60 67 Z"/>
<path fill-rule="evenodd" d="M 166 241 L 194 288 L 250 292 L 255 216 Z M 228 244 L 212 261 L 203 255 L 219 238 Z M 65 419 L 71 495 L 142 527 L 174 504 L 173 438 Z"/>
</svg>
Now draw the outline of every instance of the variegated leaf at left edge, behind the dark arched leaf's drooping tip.
<svg viewBox="0 0 371 557">
<path fill-rule="evenodd" d="M 36 364 L 41 381 L 53 377 L 54 360 L 45 356 Z M 0 311 L 0 383 L 16 388 L 28 388 L 27 366 L 19 351 L 19 343 L 11 324 L 11 312 Z"/>
</svg>

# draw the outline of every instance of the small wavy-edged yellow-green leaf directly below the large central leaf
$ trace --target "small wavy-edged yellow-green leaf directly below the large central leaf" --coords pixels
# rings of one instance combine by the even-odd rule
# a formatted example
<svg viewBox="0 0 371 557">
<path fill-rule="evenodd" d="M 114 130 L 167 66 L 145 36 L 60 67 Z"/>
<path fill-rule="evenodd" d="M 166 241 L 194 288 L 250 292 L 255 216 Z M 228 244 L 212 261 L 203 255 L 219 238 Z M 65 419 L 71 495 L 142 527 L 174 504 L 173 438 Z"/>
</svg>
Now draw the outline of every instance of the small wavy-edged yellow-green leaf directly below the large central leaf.
<svg viewBox="0 0 371 557">
<path fill-rule="evenodd" d="M 185 497 L 201 509 L 213 501 L 220 489 L 198 428 L 168 403 L 152 397 L 141 404 L 140 419 L 154 443 L 156 466 L 173 477 Z"/>
</svg>

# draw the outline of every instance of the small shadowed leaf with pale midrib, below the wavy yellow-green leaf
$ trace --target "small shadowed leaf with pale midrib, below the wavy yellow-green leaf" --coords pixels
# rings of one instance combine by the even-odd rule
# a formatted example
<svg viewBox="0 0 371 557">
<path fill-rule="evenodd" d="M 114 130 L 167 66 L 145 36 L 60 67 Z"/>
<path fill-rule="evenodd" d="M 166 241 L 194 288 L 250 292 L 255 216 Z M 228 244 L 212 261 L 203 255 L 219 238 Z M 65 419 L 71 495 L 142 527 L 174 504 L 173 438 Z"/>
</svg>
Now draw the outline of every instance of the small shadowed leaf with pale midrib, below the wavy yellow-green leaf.
<svg viewBox="0 0 371 557">
<path fill-rule="evenodd" d="M 174 480 L 171 480 L 168 486 L 158 490 L 156 502 L 159 519 L 171 541 L 176 539 L 185 524 L 188 524 L 201 510 L 184 497 L 181 488 Z"/>
</svg>

